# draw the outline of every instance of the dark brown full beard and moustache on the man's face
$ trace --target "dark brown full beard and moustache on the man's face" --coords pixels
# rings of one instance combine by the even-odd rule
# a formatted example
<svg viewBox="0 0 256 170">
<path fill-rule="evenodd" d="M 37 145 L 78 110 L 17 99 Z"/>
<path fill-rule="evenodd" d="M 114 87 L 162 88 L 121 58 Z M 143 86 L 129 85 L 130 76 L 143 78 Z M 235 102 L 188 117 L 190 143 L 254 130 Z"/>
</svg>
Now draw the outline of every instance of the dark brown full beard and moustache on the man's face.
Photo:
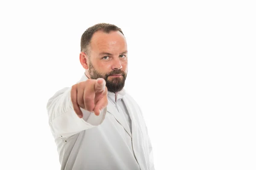
<svg viewBox="0 0 256 170">
<path fill-rule="evenodd" d="M 124 86 L 125 86 L 125 79 L 127 76 L 127 73 L 124 71 L 118 69 L 118 70 L 113 70 L 108 74 L 101 74 L 99 71 L 96 71 L 96 69 L 93 67 L 92 63 L 89 60 L 89 70 L 88 73 L 91 77 L 91 79 L 98 79 L 98 78 L 103 78 L 106 81 L 106 86 L 108 88 L 108 91 L 116 93 L 118 91 L 121 91 Z M 113 77 L 113 78 L 108 78 L 109 76 L 112 76 L 114 74 L 122 74 L 121 77 Z"/>
</svg>

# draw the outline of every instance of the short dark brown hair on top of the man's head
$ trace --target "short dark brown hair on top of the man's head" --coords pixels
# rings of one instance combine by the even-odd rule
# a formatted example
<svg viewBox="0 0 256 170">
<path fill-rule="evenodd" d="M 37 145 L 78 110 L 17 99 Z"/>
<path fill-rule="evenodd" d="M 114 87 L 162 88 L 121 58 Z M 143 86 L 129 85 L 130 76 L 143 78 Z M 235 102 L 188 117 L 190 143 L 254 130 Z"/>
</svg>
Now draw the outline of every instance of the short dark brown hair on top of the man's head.
<svg viewBox="0 0 256 170">
<path fill-rule="evenodd" d="M 91 26 L 90 28 L 87 28 L 87 30 L 84 31 L 84 34 L 81 36 L 81 52 L 85 52 L 88 55 L 89 53 L 88 47 L 90 45 L 90 41 L 93 37 L 93 34 L 99 30 L 104 31 L 105 33 L 108 33 L 108 34 L 110 33 L 110 31 L 120 31 L 123 34 L 121 28 L 118 28 L 113 24 L 98 23 L 94 26 Z"/>
</svg>

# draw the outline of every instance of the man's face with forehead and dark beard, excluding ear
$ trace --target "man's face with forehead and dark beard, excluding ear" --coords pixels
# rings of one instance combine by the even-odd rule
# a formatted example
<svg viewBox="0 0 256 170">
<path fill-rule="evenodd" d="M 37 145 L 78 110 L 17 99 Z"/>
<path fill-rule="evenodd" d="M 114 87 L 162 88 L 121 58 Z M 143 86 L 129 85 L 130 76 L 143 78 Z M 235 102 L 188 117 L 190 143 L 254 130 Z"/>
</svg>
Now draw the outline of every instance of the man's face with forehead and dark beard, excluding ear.
<svg viewBox="0 0 256 170">
<path fill-rule="evenodd" d="M 108 91 L 121 91 L 128 72 L 127 44 L 122 33 L 97 31 L 93 34 L 89 51 L 90 78 L 103 78 Z"/>
</svg>

